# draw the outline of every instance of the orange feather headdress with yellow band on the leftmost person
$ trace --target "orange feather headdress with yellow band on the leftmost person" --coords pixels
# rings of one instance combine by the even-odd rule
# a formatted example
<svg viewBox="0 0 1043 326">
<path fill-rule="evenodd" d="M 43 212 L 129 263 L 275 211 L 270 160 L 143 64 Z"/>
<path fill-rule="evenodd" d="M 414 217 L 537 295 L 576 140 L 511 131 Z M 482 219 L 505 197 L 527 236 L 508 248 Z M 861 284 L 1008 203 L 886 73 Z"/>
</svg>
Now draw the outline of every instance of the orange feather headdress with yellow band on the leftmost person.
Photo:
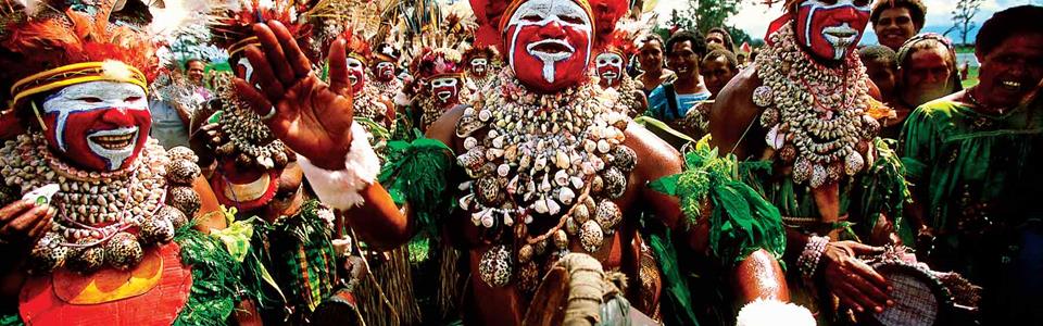
<svg viewBox="0 0 1043 326">
<path fill-rule="evenodd" d="M 93 80 L 147 89 L 155 76 L 152 14 L 139 0 L 0 1 L 0 87 L 10 90 L 0 97 L 10 108 Z"/>
</svg>

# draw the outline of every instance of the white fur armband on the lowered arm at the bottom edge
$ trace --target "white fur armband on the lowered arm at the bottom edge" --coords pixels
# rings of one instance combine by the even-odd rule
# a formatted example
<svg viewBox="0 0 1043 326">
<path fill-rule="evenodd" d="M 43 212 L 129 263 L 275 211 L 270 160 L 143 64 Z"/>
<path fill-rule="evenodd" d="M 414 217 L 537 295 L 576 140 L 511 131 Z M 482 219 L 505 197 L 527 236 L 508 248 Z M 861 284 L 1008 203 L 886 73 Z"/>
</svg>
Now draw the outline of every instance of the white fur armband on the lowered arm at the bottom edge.
<svg viewBox="0 0 1043 326">
<path fill-rule="evenodd" d="M 815 326 L 815 316 L 806 308 L 775 299 L 757 299 L 739 310 L 736 326 L 762 325 Z"/>
</svg>

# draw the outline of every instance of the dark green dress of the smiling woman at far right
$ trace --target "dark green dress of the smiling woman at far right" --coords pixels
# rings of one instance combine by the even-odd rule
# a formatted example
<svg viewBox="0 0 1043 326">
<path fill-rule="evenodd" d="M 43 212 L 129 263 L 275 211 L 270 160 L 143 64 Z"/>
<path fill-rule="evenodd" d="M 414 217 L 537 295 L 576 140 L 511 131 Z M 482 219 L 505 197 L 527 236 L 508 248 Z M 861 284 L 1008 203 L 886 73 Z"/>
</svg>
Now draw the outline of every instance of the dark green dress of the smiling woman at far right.
<svg viewBox="0 0 1043 326">
<path fill-rule="evenodd" d="M 938 100 L 917 108 L 903 130 L 902 161 L 923 223 L 937 237 L 928 263 L 982 286 L 987 321 L 1016 315 L 1043 321 L 1039 297 L 1018 299 L 1043 289 L 1041 108 L 993 115 Z M 1029 302 L 1036 303 L 1021 306 Z"/>
</svg>

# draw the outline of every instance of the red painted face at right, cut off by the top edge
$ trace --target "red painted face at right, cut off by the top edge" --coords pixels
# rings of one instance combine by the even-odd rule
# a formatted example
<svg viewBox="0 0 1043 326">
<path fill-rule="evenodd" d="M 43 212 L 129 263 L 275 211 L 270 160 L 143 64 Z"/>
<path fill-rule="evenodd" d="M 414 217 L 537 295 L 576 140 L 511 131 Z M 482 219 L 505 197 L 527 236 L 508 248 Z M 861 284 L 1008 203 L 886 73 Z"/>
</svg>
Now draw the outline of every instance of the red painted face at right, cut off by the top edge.
<svg viewBox="0 0 1043 326">
<path fill-rule="evenodd" d="M 869 0 L 808 0 L 796 13 L 796 40 L 813 57 L 841 60 L 850 55 L 869 24 Z"/>
</svg>

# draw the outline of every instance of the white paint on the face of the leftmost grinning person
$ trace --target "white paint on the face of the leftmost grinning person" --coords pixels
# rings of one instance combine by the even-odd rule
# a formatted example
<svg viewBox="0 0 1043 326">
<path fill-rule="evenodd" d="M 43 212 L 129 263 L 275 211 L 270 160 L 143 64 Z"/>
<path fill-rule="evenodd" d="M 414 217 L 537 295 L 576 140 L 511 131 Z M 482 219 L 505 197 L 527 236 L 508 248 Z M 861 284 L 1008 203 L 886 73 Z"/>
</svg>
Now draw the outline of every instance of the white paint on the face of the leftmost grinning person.
<svg viewBox="0 0 1043 326">
<path fill-rule="evenodd" d="M 70 152 L 70 142 L 83 137 L 90 151 L 108 161 L 109 170 L 115 170 L 135 154 L 139 128 L 135 126 L 138 121 L 134 116 L 144 118 L 150 116 L 149 102 L 140 86 L 106 80 L 75 84 L 62 88 L 43 101 L 42 109 L 45 116 L 55 115 L 54 138 L 59 150 L 76 154 Z M 99 124 L 98 116 L 105 114 L 109 110 L 126 110 L 130 115 L 122 122 L 123 126 L 105 128 L 109 123 Z M 77 131 L 66 131 L 71 115 L 86 116 L 87 122 L 98 125 L 78 125 L 72 127 Z M 103 146 L 98 141 L 106 143 Z M 120 143 L 120 146 L 113 147 L 112 143 Z"/>
</svg>

